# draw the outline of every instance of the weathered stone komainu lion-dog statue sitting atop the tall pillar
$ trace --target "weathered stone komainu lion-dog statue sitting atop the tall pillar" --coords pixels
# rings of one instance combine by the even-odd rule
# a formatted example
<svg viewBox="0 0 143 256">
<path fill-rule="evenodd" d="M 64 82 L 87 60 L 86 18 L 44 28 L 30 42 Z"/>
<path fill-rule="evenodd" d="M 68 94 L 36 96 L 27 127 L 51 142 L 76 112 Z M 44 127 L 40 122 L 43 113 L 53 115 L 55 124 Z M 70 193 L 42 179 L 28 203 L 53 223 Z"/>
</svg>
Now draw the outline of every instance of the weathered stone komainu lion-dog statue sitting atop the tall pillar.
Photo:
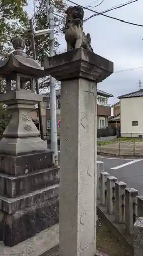
<svg viewBox="0 0 143 256">
<path fill-rule="evenodd" d="M 66 24 L 63 32 L 67 42 L 67 51 L 83 47 L 91 52 L 91 37 L 83 32 L 84 10 L 80 6 L 70 6 L 66 10 Z"/>
</svg>

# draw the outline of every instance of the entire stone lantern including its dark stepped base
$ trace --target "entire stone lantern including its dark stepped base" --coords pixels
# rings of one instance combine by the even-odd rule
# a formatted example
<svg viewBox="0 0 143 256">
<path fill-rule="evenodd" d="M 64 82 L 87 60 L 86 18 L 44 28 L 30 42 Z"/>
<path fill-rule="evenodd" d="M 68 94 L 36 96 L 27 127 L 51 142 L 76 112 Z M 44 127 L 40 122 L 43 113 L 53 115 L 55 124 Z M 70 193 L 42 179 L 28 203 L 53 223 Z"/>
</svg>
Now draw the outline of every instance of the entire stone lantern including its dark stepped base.
<svg viewBox="0 0 143 256">
<path fill-rule="evenodd" d="M 35 83 L 45 71 L 24 53 L 22 38 L 14 38 L 12 44 L 15 51 L 0 62 L 0 77 L 6 79 L 0 101 L 12 113 L 0 141 L 0 241 L 6 246 L 59 221 L 59 167 L 29 115 L 42 101 Z"/>
</svg>

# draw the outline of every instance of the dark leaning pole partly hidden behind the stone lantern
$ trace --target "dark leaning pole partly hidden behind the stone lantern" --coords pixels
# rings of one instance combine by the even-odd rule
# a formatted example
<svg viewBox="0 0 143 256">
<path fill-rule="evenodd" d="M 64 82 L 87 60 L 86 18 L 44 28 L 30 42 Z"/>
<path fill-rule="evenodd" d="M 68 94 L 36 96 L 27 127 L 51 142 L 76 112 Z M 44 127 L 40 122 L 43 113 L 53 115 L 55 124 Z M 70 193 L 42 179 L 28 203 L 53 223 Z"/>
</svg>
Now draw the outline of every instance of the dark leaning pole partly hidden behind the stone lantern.
<svg viewBox="0 0 143 256">
<path fill-rule="evenodd" d="M 31 33 L 31 45 L 32 45 L 33 59 L 36 60 L 35 38 L 34 38 L 34 33 L 33 33 L 33 22 L 32 22 L 32 19 L 30 19 L 30 33 Z M 38 79 L 36 79 L 36 92 L 37 92 L 37 94 L 39 94 Z M 39 114 L 39 126 L 40 126 L 41 139 L 44 140 L 43 123 L 42 123 L 42 112 L 41 112 L 40 102 L 38 102 L 38 114 Z"/>
</svg>

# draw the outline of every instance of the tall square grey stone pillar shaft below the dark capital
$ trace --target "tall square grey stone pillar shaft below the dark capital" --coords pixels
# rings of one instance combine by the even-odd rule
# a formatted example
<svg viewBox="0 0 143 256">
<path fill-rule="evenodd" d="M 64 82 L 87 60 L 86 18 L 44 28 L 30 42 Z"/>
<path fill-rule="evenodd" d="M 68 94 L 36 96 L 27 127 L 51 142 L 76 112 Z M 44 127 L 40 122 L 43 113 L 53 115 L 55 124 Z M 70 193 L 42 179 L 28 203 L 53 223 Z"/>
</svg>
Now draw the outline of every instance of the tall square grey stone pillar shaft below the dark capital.
<svg viewBox="0 0 143 256">
<path fill-rule="evenodd" d="M 80 78 L 62 82 L 61 103 L 60 256 L 94 256 L 96 83 Z"/>
</svg>

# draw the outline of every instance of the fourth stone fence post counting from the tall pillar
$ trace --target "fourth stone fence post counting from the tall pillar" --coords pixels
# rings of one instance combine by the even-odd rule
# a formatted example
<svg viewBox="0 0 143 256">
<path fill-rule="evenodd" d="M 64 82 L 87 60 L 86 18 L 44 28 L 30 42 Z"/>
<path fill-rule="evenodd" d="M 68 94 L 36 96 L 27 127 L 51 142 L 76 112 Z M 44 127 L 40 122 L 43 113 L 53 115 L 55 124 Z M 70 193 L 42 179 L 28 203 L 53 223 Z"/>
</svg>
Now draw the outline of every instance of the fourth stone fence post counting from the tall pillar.
<svg viewBox="0 0 143 256">
<path fill-rule="evenodd" d="M 125 222 L 125 188 L 127 184 L 122 181 L 115 183 L 115 221 Z"/>
</svg>

